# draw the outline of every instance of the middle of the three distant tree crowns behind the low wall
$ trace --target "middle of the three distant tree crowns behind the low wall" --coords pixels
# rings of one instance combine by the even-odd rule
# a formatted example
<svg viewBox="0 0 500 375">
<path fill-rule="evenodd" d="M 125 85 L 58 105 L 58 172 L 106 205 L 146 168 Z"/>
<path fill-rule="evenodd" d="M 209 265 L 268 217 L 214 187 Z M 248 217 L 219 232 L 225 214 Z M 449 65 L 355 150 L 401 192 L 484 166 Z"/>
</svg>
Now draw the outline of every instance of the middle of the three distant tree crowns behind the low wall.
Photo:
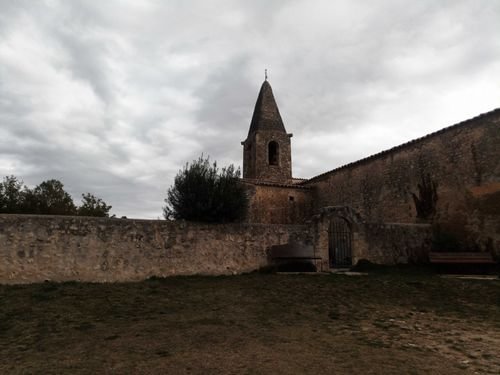
<svg viewBox="0 0 500 375">
<path fill-rule="evenodd" d="M 58 180 L 43 181 L 33 190 L 26 191 L 26 210 L 42 215 L 75 215 L 73 198 Z"/>
</svg>

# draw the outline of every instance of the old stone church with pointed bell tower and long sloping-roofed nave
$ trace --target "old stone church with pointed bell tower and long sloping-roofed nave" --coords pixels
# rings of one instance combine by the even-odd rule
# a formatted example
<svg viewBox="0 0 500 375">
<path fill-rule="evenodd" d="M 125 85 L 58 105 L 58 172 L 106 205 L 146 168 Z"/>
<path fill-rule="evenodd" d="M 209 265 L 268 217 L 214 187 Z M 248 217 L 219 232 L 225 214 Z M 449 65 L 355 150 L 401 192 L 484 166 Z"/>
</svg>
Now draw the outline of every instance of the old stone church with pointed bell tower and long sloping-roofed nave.
<svg viewBox="0 0 500 375">
<path fill-rule="evenodd" d="M 500 109 L 310 179 L 292 175 L 291 139 L 266 79 L 241 142 L 248 222 L 336 228 L 371 259 L 373 243 L 424 227 L 442 246 L 500 254 Z"/>
</svg>

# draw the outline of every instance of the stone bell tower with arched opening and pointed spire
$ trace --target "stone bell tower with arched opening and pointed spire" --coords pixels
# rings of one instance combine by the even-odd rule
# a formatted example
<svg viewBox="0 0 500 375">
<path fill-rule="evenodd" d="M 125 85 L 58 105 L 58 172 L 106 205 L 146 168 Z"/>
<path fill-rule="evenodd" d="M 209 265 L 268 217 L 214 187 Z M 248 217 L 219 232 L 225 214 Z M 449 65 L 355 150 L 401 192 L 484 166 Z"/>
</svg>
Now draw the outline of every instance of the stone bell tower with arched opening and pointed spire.
<svg viewBox="0 0 500 375">
<path fill-rule="evenodd" d="M 243 145 L 243 178 L 290 183 L 292 153 L 273 89 L 266 80 L 260 88 L 247 139 Z"/>
</svg>

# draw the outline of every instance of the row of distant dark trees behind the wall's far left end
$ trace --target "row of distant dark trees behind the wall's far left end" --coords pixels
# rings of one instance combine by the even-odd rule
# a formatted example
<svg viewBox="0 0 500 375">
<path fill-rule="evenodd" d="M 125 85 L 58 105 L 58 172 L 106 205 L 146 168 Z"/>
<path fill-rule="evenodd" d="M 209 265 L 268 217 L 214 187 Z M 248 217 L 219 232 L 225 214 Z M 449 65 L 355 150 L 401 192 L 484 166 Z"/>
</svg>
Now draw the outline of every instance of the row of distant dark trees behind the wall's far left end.
<svg viewBox="0 0 500 375">
<path fill-rule="evenodd" d="M 109 217 L 110 209 L 90 193 L 82 194 L 82 203 L 76 206 L 58 180 L 43 181 L 33 189 L 15 176 L 6 176 L 0 183 L 0 213 Z"/>
</svg>

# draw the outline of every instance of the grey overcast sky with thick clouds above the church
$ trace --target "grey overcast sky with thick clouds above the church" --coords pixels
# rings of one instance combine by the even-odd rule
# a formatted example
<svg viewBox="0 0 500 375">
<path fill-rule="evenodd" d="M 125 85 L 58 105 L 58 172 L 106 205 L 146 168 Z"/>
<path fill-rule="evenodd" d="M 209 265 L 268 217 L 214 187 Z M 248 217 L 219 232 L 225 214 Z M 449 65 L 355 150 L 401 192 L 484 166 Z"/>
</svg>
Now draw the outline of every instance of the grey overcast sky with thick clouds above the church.
<svg viewBox="0 0 500 375">
<path fill-rule="evenodd" d="M 161 217 L 241 165 L 265 68 L 313 177 L 500 107 L 500 1 L 0 0 L 0 176 Z"/>
</svg>

